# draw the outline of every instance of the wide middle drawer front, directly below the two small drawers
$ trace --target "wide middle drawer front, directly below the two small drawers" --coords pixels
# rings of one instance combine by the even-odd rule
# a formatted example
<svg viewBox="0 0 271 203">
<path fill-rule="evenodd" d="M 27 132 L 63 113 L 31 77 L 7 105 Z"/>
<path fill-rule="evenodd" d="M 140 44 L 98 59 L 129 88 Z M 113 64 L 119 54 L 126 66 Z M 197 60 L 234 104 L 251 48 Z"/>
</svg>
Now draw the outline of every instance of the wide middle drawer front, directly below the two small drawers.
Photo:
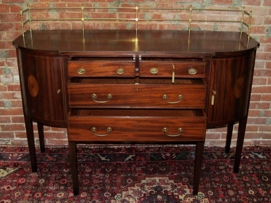
<svg viewBox="0 0 271 203">
<path fill-rule="evenodd" d="M 69 83 L 71 108 L 204 109 L 205 84 Z"/>
</svg>

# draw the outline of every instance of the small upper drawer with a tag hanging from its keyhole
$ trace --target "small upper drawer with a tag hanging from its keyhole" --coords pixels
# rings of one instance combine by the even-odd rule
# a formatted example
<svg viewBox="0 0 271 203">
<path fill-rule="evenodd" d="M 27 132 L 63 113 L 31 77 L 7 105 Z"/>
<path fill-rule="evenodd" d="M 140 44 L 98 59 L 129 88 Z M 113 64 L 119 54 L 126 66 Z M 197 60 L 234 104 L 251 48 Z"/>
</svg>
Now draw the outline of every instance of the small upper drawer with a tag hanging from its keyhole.
<svg viewBox="0 0 271 203">
<path fill-rule="evenodd" d="M 205 78 L 205 62 L 202 60 L 142 60 L 140 77 Z"/>
</svg>

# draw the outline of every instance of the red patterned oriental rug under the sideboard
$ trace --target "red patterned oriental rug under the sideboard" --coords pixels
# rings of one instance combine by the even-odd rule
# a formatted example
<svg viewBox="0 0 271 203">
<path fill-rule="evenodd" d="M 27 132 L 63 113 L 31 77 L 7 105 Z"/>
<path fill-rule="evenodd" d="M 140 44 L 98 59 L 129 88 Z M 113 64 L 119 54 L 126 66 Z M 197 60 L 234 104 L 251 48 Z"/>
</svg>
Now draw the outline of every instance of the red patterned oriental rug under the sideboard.
<svg viewBox="0 0 271 203">
<path fill-rule="evenodd" d="M 74 196 L 67 147 L 37 149 L 38 173 L 32 173 L 27 148 L 0 145 L 0 203 L 271 202 L 271 147 L 245 147 L 237 174 L 234 151 L 204 148 L 197 196 L 192 195 L 194 150 L 182 145 L 79 146 L 80 193 Z"/>
</svg>

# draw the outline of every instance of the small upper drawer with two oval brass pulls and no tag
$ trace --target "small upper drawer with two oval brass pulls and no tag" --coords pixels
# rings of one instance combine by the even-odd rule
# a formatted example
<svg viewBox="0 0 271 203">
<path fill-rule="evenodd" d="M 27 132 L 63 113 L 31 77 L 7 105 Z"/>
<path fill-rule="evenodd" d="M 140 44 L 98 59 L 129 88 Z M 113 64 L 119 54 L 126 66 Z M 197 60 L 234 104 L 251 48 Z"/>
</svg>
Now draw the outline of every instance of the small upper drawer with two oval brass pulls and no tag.
<svg viewBox="0 0 271 203">
<path fill-rule="evenodd" d="M 68 61 L 69 77 L 134 77 L 132 58 L 73 58 Z"/>
</svg>

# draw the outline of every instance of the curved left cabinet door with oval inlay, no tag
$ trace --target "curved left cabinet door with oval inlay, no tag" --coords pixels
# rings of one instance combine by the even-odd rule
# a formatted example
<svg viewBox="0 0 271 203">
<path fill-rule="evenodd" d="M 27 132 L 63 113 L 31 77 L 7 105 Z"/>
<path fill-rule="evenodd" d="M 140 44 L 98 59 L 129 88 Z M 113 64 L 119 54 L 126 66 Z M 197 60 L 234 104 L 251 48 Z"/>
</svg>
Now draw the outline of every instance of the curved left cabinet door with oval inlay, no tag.
<svg viewBox="0 0 271 203">
<path fill-rule="evenodd" d="M 18 50 L 25 113 L 44 125 L 66 127 L 62 57 Z"/>
</svg>

